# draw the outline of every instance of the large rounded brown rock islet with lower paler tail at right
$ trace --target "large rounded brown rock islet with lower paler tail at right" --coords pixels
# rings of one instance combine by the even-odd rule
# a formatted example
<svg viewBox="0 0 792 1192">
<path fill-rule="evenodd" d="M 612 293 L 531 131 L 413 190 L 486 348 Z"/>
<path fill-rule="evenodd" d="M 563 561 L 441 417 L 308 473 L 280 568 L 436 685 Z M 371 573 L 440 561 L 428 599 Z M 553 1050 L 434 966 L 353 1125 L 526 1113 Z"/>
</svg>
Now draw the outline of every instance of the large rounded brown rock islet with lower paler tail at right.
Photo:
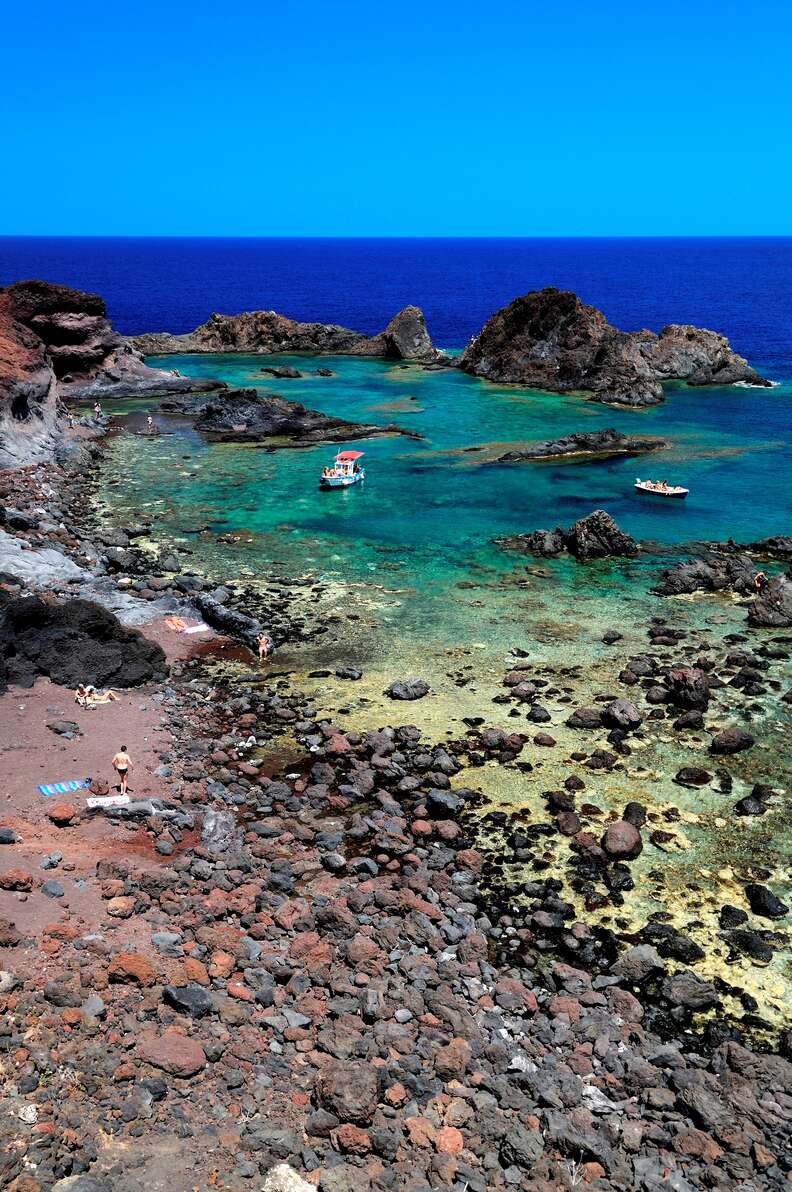
<svg viewBox="0 0 792 1192">
<path fill-rule="evenodd" d="M 660 335 L 619 331 L 596 308 L 553 287 L 515 298 L 493 315 L 458 365 L 487 380 L 587 392 L 632 406 L 662 402 L 663 380 L 768 384 L 716 331 L 675 324 Z"/>
</svg>

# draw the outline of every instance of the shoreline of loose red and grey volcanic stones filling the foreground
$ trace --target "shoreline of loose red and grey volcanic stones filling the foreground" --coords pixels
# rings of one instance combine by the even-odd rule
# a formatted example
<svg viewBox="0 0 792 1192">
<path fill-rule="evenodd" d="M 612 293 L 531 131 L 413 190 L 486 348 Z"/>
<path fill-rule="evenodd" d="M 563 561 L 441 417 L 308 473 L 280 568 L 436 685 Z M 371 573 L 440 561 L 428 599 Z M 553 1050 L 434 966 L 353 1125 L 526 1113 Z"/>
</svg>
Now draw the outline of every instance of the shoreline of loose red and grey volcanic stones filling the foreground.
<svg viewBox="0 0 792 1192">
<path fill-rule="evenodd" d="M 68 597 L 100 601 L 165 641 L 169 672 L 125 670 L 110 644 L 128 631 L 107 632 L 110 614 L 110 652 L 92 653 L 99 629 L 81 620 L 85 637 L 61 660 L 124 694 L 144 683 L 125 715 L 140 721 L 134 751 L 159 734 L 150 772 L 122 809 L 88 813 L 78 793 L 12 802 L 0 820 L 2 1185 L 788 1184 L 788 1033 L 765 1022 L 738 973 L 697 971 L 703 950 L 685 925 L 655 915 L 624 938 L 596 919 L 630 898 L 643 850 L 669 848 L 676 831 L 642 803 L 639 783 L 620 814 L 598 806 L 598 784 L 664 725 L 703 741 L 703 764 L 679 783 L 728 793 L 728 758 L 755 744 L 731 709 L 750 716 L 757 699 L 787 700 L 787 639 L 699 642 L 657 617 L 645 652 L 619 658 L 614 629 L 614 689 L 592 704 L 571 697 L 564 728 L 578 746 L 545 793 L 546 815 L 507 815 L 488 809 L 477 774 L 527 772 L 553 749 L 543 701 L 569 676 L 530 660 L 506 672 L 499 700 L 520 718 L 511 733 L 483 718 L 441 743 L 401 721 L 352 731 L 279 676 L 277 656 L 259 670 L 235 644 L 253 645 L 261 625 L 277 642 L 321 631 L 283 589 L 219 590 L 179 557 L 138 551 L 146 524 L 100 526 L 91 483 L 51 466 L 5 473 L 6 678 L 45 677 L 0 709 L 74 679 L 52 671 L 51 651 L 17 648 L 8 610 L 17 619 L 35 588 L 36 623 L 73 633 Z M 565 542 L 601 544 L 600 521 Z M 168 613 L 230 637 L 177 652 L 161 632 Z M 160 654 L 148 650 L 155 665 Z M 426 688 L 401 681 L 397 695 Z M 42 731 L 63 741 L 66 765 L 104 712 L 45 691 Z M 134 715 L 136 704 L 146 710 Z M 105 790 L 94 778 L 92 793 Z M 778 797 L 757 783 L 736 814 L 761 815 Z M 756 964 L 786 938 L 788 911 L 767 881 L 754 874 L 720 911 L 723 940 Z"/>
</svg>

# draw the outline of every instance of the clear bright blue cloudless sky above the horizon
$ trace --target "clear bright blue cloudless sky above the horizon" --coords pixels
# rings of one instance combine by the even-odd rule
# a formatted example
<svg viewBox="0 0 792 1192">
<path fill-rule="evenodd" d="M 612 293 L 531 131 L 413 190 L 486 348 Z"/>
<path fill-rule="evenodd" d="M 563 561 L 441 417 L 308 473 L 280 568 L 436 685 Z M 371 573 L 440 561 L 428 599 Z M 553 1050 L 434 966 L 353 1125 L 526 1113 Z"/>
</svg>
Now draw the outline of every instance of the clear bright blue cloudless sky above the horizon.
<svg viewBox="0 0 792 1192">
<path fill-rule="evenodd" d="M 5 10 L 0 234 L 792 232 L 786 0 Z"/>
</svg>

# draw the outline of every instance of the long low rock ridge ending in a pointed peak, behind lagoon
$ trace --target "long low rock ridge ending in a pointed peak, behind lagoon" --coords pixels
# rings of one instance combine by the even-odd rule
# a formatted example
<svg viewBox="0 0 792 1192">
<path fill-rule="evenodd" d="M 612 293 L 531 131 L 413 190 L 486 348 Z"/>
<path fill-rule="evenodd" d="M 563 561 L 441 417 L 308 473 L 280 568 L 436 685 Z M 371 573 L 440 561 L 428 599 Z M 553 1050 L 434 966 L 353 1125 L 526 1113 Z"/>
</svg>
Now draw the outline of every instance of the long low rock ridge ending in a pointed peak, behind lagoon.
<svg viewBox="0 0 792 1192">
<path fill-rule="evenodd" d="M 151 333 L 131 336 L 131 346 L 144 355 L 179 352 L 250 352 L 261 355 L 308 353 L 315 355 L 383 356 L 389 360 L 432 361 L 426 319 L 417 306 L 406 306 L 378 335 L 363 335 L 335 323 L 298 323 L 273 310 L 242 315 L 211 315 L 186 335 Z"/>
</svg>

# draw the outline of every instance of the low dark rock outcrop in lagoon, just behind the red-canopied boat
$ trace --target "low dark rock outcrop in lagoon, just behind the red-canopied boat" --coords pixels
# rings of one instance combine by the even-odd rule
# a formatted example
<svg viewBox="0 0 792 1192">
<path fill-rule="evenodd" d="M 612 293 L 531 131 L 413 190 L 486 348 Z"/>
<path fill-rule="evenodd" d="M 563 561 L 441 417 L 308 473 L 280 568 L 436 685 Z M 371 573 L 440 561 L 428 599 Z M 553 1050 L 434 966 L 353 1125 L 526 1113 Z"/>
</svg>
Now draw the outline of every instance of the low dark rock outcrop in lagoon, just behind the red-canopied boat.
<svg viewBox="0 0 792 1192">
<path fill-rule="evenodd" d="M 394 423 L 347 422 L 318 410 L 309 410 L 299 402 L 287 402 L 277 393 L 261 395 L 254 389 L 229 390 L 200 402 L 163 403 L 166 409 L 196 412 L 196 429 L 211 439 L 233 442 L 259 439 L 289 439 L 293 446 L 321 442 L 347 442 L 351 439 L 371 439 L 383 434 L 404 434 Z"/>
</svg>

